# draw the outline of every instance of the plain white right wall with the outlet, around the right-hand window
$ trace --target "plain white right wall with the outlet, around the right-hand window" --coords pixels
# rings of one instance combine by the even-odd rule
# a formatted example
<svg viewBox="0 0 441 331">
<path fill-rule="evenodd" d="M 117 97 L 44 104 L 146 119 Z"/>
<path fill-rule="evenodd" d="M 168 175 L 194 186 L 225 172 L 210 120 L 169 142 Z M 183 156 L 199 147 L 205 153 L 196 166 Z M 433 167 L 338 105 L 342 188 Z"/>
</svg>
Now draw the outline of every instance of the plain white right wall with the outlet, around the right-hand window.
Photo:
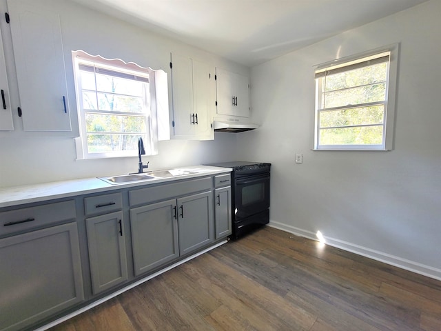
<svg viewBox="0 0 441 331">
<path fill-rule="evenodd" d="M 432 0 L 252 68 L 252 120 L 263 126 L 238 139 L 238 152 L 273 164 L 273 225 L 320 230 L 331 245 L 441 279 L 440 14 Z M 395 148 L 311 151 L 314 65 L 392 43 Z"/>
</svg>

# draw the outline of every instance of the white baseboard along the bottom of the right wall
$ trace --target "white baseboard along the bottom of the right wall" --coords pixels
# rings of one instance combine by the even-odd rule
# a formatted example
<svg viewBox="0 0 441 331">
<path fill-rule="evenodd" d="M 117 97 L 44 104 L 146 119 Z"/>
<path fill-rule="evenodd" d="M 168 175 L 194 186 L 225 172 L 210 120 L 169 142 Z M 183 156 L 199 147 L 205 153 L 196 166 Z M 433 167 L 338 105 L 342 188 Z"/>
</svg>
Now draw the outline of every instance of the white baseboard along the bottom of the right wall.
<svg viewBox="0 0 441 331">
<path fill-rule="evenodd" d="M 314 232 L 296 228 L 292 225 L 287 225 L 279 223 L 276 221 L 269 221 L 269 226 L 271 228 L 276 228 L 292 234 L 296 234 L 300 237 L 305 237 L 317 241 L 316 234 Z M 347 250 L 355 254 L 362 255 L 363 257 L 369 257 L 376 261 L 384 262 L 390 265 L 394 265 L 398 268 L 409 270 L 411 272 L 416 272 L 417 274 L 422 274 L 433 279 L 438 279 L 441 281 L 441 269 L 433 268 L 429 265 L 424 265 L 415 261 L 409 261 L 407 259 L 402 259 L 401 257 L 396 257 L 391 254 L 380 252 L 378 250 L 372 250 L 371 248 L 366 248 L 355 243 L 349 243 L 347 241 L 342 241 L 340 239 L 335 239 L 331 237 L 325 237 L 325 243 L 336 248 L 341 248 L 342 250 Z"/>
</svg>

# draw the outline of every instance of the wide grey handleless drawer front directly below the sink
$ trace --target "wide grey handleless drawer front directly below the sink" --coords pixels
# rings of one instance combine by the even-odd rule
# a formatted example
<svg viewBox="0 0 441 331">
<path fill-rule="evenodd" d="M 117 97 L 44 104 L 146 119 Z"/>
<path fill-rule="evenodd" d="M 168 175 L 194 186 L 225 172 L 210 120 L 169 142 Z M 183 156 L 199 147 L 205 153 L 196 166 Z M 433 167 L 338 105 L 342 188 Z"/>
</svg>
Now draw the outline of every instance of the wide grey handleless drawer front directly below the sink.
<svg viewBox="0 0 441 331">
<path fill-rule="evenodd" d="M 132 190 L 129 192 L 129 202 L 130 206 L 141 205 L 203 190 L 211 190 L 211 188 L 212 177 L 202 177 L 199 179 L 192 179 L 191 181 L 179 181 L 171 184 L 141 188 L 140 190 Z"/>
</svg>

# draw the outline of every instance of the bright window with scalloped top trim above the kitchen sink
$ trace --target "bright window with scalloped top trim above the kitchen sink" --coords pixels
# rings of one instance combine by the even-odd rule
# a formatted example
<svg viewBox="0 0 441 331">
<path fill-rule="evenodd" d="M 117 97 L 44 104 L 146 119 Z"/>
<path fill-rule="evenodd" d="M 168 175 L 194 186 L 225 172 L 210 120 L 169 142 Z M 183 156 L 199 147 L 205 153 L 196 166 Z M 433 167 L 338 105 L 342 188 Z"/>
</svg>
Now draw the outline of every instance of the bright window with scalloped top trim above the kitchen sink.
<svg viewBox="0 0 441 331">
<path fill-rule="evenodd" d="M 158 154 L 158 139 L 170 138 L 164 132 L 168 125 L 161 125 L 168 123 L 167 74 L 83 51 L 72 56 L 80 126 L 77 159 L 136 156 L 139 137 L 145 154 Z"/>
</svg>

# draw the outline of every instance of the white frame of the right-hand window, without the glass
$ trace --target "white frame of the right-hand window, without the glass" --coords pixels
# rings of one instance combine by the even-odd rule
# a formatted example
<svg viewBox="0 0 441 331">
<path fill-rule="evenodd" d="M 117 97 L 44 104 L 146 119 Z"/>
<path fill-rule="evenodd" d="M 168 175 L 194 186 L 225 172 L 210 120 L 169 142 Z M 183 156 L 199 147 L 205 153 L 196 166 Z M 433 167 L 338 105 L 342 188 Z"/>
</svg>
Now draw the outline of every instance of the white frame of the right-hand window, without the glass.
<svg viewBox="0 0 441 331">
<path fill-rule="evenodd" d="M 399 44 L 393 44 L 390 46 L 384 46 L 368 52 L 353 55 L 351 57 L 343 57 L 327 63 L 322 63 L 316 66 L 316 109 L 315 109 L 315 128 L 314 128 L 314 148 L 313 150 L 379 150 L 387 151 L 393 149 L 393 129 L 395 119 L 395 103 L 396 103 L 396 82 L 397 82 L 397 70 L 398 70 L 398 49 Z M 323 72 L 329 70 L 340 69 L 344 70 L 345 67 L 353 66 L 354 63 L 360 63 L 360 60 L 366 60 L 372 57 L 378 58 L 378 54 L 389 54 L 389 70 L 387 72 L 386 83 L 386 96 L 384 101 L 384 121 L 383 121 L 383 135 L 382 143 L 376 145 L 321 145 L 320 144 L 320 109 L 321 99 L 321 86 L 320 76 Z M 353 105 L 357 106 L 357 105 Z M 366 106 L 366 105 L 365 105 Z M 369 105 L 367 105 L 369 106 Z"/>
</svg>

